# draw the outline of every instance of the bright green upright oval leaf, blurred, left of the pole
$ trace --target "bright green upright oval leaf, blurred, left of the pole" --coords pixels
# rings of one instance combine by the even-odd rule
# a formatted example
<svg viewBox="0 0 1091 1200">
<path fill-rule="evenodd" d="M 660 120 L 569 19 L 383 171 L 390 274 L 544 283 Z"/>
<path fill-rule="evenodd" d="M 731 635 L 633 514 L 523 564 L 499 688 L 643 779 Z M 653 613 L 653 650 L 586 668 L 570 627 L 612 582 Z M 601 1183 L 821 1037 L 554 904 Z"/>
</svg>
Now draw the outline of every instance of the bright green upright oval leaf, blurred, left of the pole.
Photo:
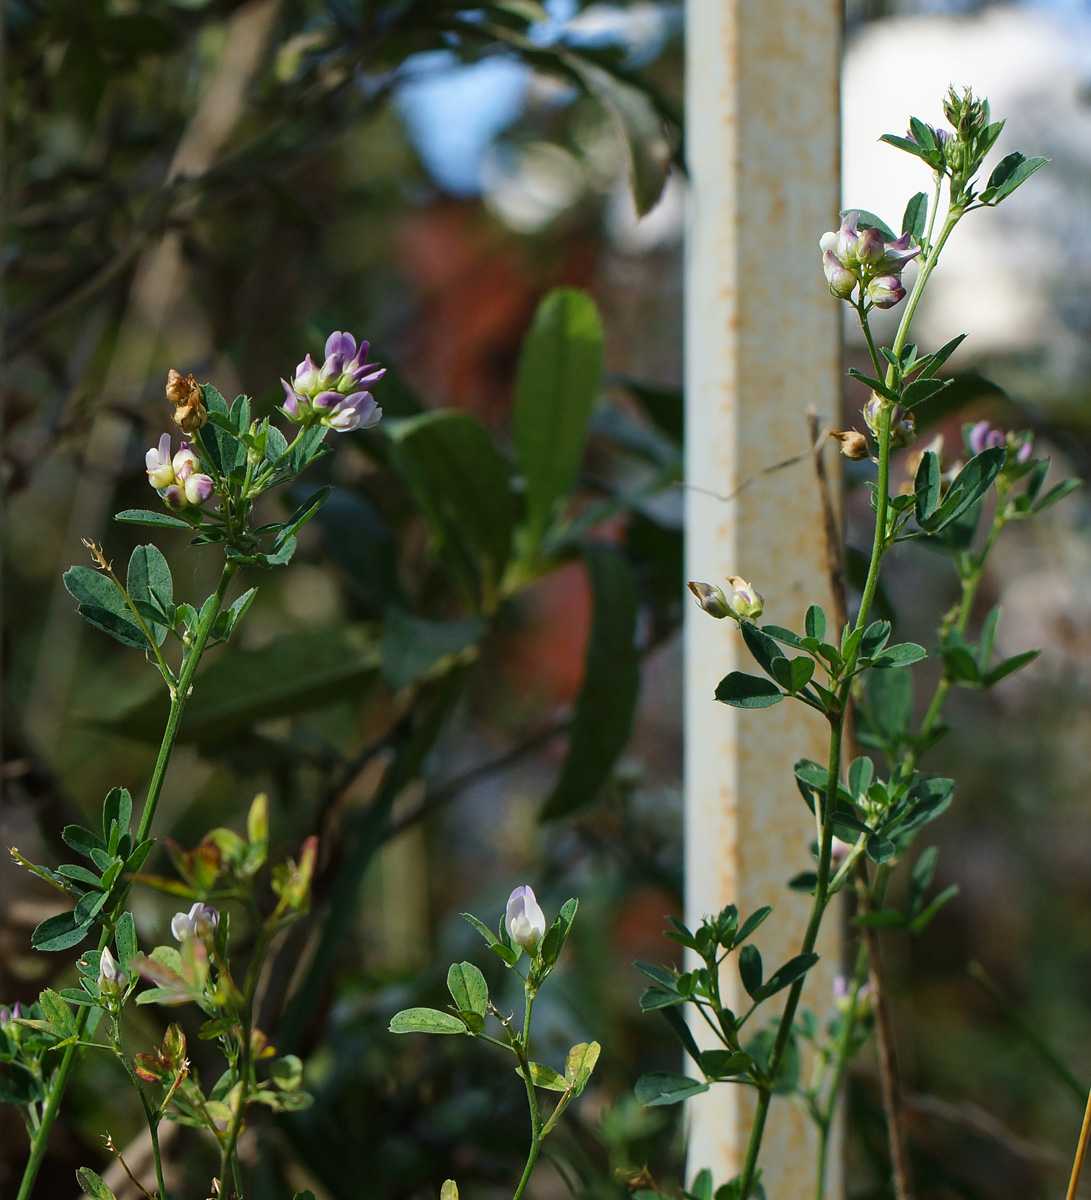
<svg viewBox="0 0 1091 1200">
<path fill-rule="evenodd" d="M 523 343 L 511 433 L 526 481 L 527 536 L 535 547 L 576 482 L 603 372 L 603 326 L 592 299 L 557 288 Z"/>
</svg>

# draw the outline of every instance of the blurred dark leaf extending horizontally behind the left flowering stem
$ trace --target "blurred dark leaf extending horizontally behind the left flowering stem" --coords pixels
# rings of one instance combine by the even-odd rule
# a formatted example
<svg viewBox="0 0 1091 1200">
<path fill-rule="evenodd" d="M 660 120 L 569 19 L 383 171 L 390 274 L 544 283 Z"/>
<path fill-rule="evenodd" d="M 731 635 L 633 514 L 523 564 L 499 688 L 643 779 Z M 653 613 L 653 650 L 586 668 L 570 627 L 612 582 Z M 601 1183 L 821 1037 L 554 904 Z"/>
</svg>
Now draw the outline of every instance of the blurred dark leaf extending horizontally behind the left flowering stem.
<svg viewBox="0 0 1091 1200">
<path fill-rule="evenodd" d="M 378 674 L 379 648 L 362 629 L 286 634 L 257 649 L 229 648 L 197 676 L 180 739 L 227 742 L 254 721 L 325 707 Z M 102 721 L 128 737 L 158 743 L 168 703 L 161 689 Z"/>
</svg>

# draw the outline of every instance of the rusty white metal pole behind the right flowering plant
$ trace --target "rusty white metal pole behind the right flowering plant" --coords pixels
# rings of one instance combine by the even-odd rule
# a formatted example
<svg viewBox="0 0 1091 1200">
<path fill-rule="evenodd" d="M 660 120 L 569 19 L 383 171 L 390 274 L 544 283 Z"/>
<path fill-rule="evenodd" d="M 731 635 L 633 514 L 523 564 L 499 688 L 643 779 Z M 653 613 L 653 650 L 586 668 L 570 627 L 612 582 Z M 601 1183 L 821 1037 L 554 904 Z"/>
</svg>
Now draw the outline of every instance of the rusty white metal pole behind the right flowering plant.
<svg viewBox="0 0 1091 1200">
<path fill-rule="evenodd" d="M 793 629 L 810 601 L 831 612 L 817 484 L 809 457 L 761 472 L 808 448 L 808 406 L 825 427 L 839 410 L 841 314 L 819 238 L 835 227 L 839 206 L 840 42 L 841 0 L 687 4 L 687 571 L 711 582 L 742 575 L 766 596 L 762 619 Z M 798 953 L 809 912 L 810 898 L 785 888 L 811 868 L 815 836 L 792 763 L 825 762 L 828 731 L 790 701 L 759 712 L 718 704 L 713 689 L 732 670 L 760 673 L 733 624 L 691 608 L 687 912 L 697 922 L 729 902 L 743 916 L 772 905 L 756 938 L 772 970 Z M 832 908 L 804 1009 L 829 1007 L 837 925 Z M 733 960 L 725 985 L 741 1010 Z M 767 1003 L 769 1016 L 780 1001 Z M 718 1184 L 738 1172 L 753 1099 L 719 1084 L 691 1102 L 690 1178 L 702 1166 Z M 768 1200 L 814 1194 L 816 1144 L 808 1118 L 774 1099 L 761 1156 Z M 839 1188 L 831 1178 L 827 1195 Z"/>
</svg>

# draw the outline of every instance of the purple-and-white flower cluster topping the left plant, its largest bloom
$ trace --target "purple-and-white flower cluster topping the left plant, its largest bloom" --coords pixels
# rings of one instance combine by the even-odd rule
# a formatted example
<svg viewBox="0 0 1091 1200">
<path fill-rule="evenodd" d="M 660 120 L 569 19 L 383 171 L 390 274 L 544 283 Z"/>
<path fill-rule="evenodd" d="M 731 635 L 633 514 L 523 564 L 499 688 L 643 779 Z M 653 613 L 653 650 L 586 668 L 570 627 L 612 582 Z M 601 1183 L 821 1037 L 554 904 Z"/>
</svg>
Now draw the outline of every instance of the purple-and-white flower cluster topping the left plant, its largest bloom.
<svg viewBox="0 0 1091 1200">
<path fill-rule="evenodd" d="M 370 430 L 383 415 L 367 391 L 386 373 L 377 362 L 367 361 L 368 343 L 352 334 L 330 334 L 325 343 L 325 361 L 319 367 L 308 354 L 284 385 L 283 414 L 299 425 L 317 421 L 338 433 Z"/>
</svg>

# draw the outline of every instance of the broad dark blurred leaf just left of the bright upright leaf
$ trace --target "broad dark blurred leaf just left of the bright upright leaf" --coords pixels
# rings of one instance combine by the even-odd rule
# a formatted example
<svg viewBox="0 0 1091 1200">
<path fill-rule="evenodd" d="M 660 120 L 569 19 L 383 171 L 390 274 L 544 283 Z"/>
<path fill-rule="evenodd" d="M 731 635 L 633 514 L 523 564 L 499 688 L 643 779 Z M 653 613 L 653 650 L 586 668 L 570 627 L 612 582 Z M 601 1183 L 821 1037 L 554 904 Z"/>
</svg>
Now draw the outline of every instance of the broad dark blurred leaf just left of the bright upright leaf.
<svg viewBox="0 0 1091 1200">
<path fill-rule="evenodd" d="M 390 422 L 395 461 L 439 552 L 468 593 L 492 595 L 511 550 L 511 472 L 492 434 L 466 413 Z"/>
</svg>

